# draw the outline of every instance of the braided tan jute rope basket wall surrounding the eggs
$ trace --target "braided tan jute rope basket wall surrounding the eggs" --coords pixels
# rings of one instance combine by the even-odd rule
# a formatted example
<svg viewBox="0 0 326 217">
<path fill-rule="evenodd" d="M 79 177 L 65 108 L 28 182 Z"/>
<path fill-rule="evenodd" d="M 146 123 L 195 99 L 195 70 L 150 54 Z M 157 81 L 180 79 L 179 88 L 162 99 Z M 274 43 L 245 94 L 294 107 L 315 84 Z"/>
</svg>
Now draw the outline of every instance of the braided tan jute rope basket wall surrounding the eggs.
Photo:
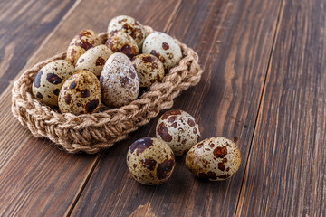
<svg viewBox="0 0 326 217">
<path fill-rule="evenodd" d="M 153 30 L 146 26 L 147 31 Z M 108 33 L 100 33 L 102 42 L 108 38 Z M 34 99 L 32 83 L 35 74 L 47 63 L 66 58 L 62 52 L 45 61 L 35 64 L 24 71 L 22 76 L 14 81 L 12 111 L 24 127 L 29 128 L 35 137 L 47 137 L 53 143 L 62 146 L 69 153 L 83 151 L 94 154 L 102 149 L 113 146 L 128 136 L 138 127 L 149 123 L 162 109 L 170 109 L 173 99 L 182 90 L 196 85 L 203 73 L 197 53 L 186 44 L 178 42 L 183 52 L 183 59 L 170 69 L 162 82 L 153 84 L 148 92 L 129 105 L 118 109 L 108 109 L 104 106 L 94 114 L 73 115 L 61 114 L 58 110 L 41 104 Z"/>
</svg>

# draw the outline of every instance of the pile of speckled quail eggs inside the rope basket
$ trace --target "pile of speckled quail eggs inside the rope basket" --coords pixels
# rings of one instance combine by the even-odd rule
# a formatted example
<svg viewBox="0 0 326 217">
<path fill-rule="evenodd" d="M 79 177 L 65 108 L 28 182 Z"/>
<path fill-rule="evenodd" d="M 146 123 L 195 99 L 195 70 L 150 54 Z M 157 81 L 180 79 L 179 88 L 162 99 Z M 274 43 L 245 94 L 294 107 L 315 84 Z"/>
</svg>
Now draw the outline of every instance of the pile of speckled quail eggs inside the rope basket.
<svg viewBox="0 0 326 217">
<path fill-rule="evenodd" d="M 101 102 L 119 108 L 160 82 L 182 58 L 166 33 L 149 33 L 134 18 L 120 15 L 108 26 L 109 38 L 84 30 L 70 43 L 66 60 L 52 61 L 34 77 L 33 95 L 43 104 L 75 115 L 96 112 Z"/>
</svg>

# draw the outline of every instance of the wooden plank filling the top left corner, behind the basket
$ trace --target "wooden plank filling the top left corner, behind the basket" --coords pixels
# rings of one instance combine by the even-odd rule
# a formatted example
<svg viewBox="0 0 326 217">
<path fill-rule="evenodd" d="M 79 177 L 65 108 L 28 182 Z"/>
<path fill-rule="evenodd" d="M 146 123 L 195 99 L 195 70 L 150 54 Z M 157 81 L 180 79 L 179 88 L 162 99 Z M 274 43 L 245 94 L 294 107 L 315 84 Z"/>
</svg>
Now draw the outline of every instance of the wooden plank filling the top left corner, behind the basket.
<svg viewBox="0 0 326 217">
<path fill-rule="evenodd" d="M 73 5 L 72 0 L 0 3 L 0 93 Z"/>
</svg>

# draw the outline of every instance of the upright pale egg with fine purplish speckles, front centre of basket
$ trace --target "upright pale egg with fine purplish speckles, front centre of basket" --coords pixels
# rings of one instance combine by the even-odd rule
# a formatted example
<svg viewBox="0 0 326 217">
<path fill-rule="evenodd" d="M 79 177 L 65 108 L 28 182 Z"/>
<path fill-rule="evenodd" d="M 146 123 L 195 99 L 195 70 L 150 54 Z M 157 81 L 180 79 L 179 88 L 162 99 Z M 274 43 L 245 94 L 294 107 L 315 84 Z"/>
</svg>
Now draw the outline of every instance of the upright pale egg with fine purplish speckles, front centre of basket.
<svg viewBox="0 0 326 217">
<path fill-rule="evenodd" d="M 129 104 L 139 95 L 139 78 L 129 58 L 113 53 L 105 62 L 100 77 L 102 102 L 109 107 Z"/>
</svg>

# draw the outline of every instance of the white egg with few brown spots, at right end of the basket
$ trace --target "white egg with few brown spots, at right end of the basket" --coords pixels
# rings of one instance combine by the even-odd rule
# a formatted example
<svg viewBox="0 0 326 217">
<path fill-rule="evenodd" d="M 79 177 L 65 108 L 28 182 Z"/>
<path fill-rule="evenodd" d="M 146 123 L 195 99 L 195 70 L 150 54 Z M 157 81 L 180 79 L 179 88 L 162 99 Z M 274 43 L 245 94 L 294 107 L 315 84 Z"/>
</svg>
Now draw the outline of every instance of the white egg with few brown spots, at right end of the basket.
<svg viewBox="0 0 326 217">
<path fill-rule="evenodd" d="M 158 57 L 164 69 L 176 66 L 182 58 L 180 46 L 166 33 L 150 33 L 143 43 L 142 52 Z"/>
</svg>

